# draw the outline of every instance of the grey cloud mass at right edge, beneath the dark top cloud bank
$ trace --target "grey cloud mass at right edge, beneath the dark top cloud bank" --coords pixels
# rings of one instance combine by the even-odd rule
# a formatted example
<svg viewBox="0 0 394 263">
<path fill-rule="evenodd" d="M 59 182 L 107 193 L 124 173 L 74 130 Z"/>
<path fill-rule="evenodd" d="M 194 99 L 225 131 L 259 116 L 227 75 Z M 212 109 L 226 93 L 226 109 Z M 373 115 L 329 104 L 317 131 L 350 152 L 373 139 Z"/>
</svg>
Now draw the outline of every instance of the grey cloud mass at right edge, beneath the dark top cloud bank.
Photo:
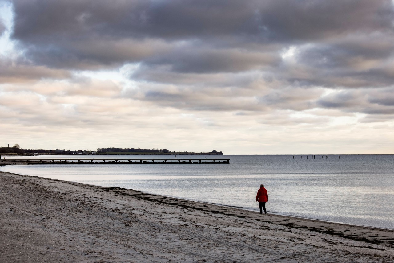
<svg viewBox="0 0 394 263">
<path fill-rule="evenodd" d="M 383 87 L 394 81 L 393 32 L 353 32 L 296 46 L 294 61 L 276 73 L 295 83 L 327 88 Z"/>
</svg>

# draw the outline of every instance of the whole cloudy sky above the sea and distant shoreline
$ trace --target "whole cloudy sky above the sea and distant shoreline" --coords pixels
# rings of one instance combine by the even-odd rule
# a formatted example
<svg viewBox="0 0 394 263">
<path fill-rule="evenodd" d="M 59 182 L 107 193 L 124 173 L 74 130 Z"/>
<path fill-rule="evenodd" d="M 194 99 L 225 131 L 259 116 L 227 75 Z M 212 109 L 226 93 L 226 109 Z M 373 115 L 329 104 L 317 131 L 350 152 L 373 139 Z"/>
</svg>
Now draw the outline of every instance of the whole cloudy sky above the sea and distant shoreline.
<svg viewBox="0 0 394 263">
<path fill-rule="evenodd" d="M 0 146 L 393 154 L 391 0 L 0 0 Z"/>
</svg>

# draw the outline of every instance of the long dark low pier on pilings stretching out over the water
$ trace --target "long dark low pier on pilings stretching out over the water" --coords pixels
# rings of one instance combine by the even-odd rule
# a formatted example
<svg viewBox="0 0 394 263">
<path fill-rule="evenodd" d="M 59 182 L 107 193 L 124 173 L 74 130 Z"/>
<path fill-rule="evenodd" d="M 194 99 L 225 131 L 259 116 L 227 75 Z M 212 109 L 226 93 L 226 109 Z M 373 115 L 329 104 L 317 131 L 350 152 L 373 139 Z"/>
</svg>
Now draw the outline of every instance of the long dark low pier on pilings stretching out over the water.
<svg viewBox="0 0 394 263">
<path fill-rule="evenodd" d="M 78 158 L 78 159 L 13 159 L 12 162 L 27 164 L 202 164 L 202 163 L 230 163 L 230 159 L 108 159 L 108 158 Z"/>
</svg>

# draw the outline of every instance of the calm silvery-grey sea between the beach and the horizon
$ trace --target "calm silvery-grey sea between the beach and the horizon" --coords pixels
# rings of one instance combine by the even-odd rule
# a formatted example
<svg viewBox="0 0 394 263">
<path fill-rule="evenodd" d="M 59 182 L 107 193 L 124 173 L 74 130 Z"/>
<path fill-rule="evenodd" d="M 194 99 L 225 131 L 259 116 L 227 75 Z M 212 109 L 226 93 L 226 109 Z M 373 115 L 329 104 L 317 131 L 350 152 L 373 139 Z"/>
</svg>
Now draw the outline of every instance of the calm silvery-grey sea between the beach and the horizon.
<svg viewBox="0 0 394 263">
<path fill-rule="evenodd" d="M 189 157 L 198 158 L 178 156 Z M 292 155 L 215 157 L 229 158 L 230 164 L 13 165 L 0 167 L 0 170 L 255 211 L 258 211 L 256 192 L 259 185 L 264 184 L 269 196 L 268 212 L 394 229 L 394 155 L 330 155 L 329 159 L 322 155 L 316 155 L 315 159 L 310 155 L 308 158 L 298 155 L 294 159 Z M 139 160 L 141 157 L 117 158 Z"/>
</svg>

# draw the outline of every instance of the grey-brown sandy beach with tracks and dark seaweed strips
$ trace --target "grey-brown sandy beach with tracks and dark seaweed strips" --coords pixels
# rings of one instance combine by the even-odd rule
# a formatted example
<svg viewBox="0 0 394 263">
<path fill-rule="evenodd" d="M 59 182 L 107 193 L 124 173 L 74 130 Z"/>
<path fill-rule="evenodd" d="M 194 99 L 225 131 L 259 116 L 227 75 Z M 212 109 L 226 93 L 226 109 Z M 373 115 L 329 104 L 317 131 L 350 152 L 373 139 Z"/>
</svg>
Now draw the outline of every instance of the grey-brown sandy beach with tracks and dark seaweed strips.
<svg viewBox="0 0 394 263">
<path fill-rule="evenodd" d="M 4 172 L 0 235 L 0 262 L 394 261 L 393 230 Z"/>
</svg>

